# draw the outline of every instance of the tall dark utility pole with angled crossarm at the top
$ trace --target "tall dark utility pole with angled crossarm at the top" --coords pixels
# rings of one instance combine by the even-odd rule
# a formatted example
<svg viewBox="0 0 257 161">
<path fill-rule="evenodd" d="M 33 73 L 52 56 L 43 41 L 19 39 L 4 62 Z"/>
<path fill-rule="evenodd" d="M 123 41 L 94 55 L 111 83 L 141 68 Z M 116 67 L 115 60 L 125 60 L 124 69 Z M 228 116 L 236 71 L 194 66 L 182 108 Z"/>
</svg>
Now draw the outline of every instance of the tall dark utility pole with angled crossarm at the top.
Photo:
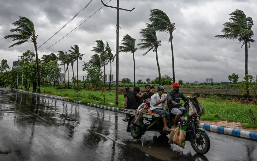
<svg viewBox="0 0 257 161">
<path fill-rule="evenodd" d="M 102 1 L 101 1 L 102 2 Z M 105 5 L 103 2 L 102 4 L 106 7 L 110 7 L 110 8 L 115 8 L 117 9 L 117 24 L 116 24 L 116 94 L 115 94 L 115 104 L 118 105 L 119 104 L 119 10 L 125 10 L 125 11 L 129 11 L 131 12 L 132 10 L 135 9 L 135 7 L 132 10 L 126 10 L 123 8 L 119 8 L 119 0 L 117 0 L 117 7 L 113 7 L 113 6 L 107 6 Z"/>
</svg>

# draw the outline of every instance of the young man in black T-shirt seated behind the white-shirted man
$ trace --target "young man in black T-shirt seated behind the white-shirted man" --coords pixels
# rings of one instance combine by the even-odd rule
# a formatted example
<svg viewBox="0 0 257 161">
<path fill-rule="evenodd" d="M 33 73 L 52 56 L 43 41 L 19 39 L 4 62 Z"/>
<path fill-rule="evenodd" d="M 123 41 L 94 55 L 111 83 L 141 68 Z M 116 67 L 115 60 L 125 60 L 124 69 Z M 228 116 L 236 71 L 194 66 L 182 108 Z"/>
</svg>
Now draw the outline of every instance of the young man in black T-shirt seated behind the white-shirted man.
<svg viewBox="0 0 257 161">
<path fill-rule="evenodd" d="M 147 84 L 145 85 L 145 91 L 146 93 L 144 94 L 143 96 L 143 103 L 146 103 L 147 104 L 147 108 L 146 109 L 143 109 L 141 110 L 139 113 L 136 113 L 137 112 L 137 109 L 135 110 L 135 118 L 136 120 L 134 121 L 134 124 L 131 124 L 129 127 L 133 128 L 134 125 L 138 125 L 139 126 L 139 120 L 140 118 L 142 117 L 142 115 L 144 113 L 147 112 L 148 108 L 150 108 L 150 100 L 151 100 L 151 96 L 154 95 L 152 92 L 150 92 L 150 85 Z"/>
</svg>

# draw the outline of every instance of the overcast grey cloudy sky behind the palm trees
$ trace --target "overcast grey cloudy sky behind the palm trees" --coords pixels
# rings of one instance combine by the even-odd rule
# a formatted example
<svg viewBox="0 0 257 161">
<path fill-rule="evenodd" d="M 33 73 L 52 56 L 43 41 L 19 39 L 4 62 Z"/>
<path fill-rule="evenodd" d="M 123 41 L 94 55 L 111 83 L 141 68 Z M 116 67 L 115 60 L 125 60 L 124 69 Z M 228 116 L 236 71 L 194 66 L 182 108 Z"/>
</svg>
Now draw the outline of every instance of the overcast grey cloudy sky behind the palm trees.
<svg viewBox="0 0 257 161">
<path fill-rule="evenodd" d="M 0 1 L 0 60 L 7 59 L 9 66 L 27 50 L 33 51 L 32 43 L 8 48 L 14 42 L 12 39 L 3 39 L 12 34 L 13 22 L 19 16 L 27 17 L 35 25 L 36 34 L 39 35 L 37 45 L 43 44 L 73 16 L 76 15 L 89 0 L 1 0 Z M 107 0 L 103 0 L 107 3 Z M 108 3 L 109 6 L 117 6 L 115 0 Z M 83 61 L 88 62 L 94 54 L 92 48 L 96 46 L 95 40 L 102 39 L 109 43 L 112 53 L 116 53 L 116 13 L 117 10 L 103 7 L 100 0 L 94 0 L 73 21 L 65 26 L 57 35 L 38 49 L 39 58 L 44 54 L 58 54 L 58 51 L 67 51 L 77 44 L 80 53 L 85 54 L 79 62 L 79 79 L 83 79 L 85 71 L 82 71 Z M 236 73 L 239 81 L 244 77 L 244 47 L 238 40 L 225 40 L 214 37 L 221 35 L 222 24 L 229 21 L 229 14 L 236 9 L 244 11 L 245 15 L 252 17 L 255 25 L 252 30 L 257 32 L 257 1 L 255 0 L 120 0 L 119 7 L 132 12 L 119 11 L 119 44 L 125 34 L 136 39 L 140 43 L 140 29 L 150 23 L 149 14 L 151 9 L 164 11 L 176 29 L 173 32 L 173 50 L 175 79 L 184 82 L 205 82 L 206 78 L 213 78 L 214 82 L 228 82 L 228 76 Z M 92 17 L 90 17 L 95 13 Z M 90 17 L 87 21 L 85 21 Z M 80 25 L 85 21 L 82 25 Z M 76 28 L 80 25 L 78 28 Z M 72 33 L 63 38 L 66 34 Z M 60 40 L 63 38 L 62 40 Z M 172 78 L 172 58 L 169 35 L 157 33 L 161 46 L 158 47 L 158 60 L 161 76 L 169 75 Z M 256 35 L 253 36 L 256 40 Z M 57 44 L 49 48 L 51 45 Z M 248 74 L 257 75 L 257 43 L 251 44 L 248 49 Z M 49 48 L 49 49 L 47 49 Z M 46 50 L 47 49 L 47 50 Z M 46 50 L 46 51 L 44 51 Z M 44 52 L 43 52 L 44 51 Z M 43 52 L 43 53 L 41 53 Z M 137 50 L 135 53 L 136 81 L 147 78 L 151 80 L 158 77 L 158 68 L 155 52 L 142 54 L 146 50 Z M 116 60 L 112 63 L 112 74 L 116 71 Z M 60 66 L 62 73 L 64 67 Z M 76 65 L 74 65 L 74 68 Z M 71 68 L 69 69 L 72 75 Z M 75 71 L 76 72 L 76 71 Z M 106 67 L 106 74 L 110 73 L 110 64 Z M 129 78 L 133 80 L 133 56 L 132 53 L 119 53 L 119 80 Z M 70 78 L 69 78 L 70 79 Z"/>
</svg>

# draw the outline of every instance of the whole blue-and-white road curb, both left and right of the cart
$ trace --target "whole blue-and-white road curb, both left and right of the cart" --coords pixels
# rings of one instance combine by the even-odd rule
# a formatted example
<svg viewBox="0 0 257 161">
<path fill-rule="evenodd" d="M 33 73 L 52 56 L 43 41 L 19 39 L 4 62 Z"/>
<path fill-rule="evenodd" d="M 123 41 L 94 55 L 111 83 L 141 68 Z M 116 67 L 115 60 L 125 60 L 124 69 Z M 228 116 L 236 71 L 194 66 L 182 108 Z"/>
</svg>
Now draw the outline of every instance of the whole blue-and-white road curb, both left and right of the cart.
<svg viewBox="0 0 257 161">
<path fill-rule="evenodd" d="M 0 88 L 9 88 L 9 87 L 0 87 Z M 13 90 L 17 90 L 17 89 L 13 89 Z M 61 101 L 72 102 L 70 99 L 65 99 L 65 98 L 61 98 L 61 97 L 54 97 L 54 96 L 50 96 L 50 95 L 46 95 L 46 94 L 33 93 L 33 92 L 24 91 L 24 90 L 17 90 L 17 91 L 35 94 L 35 95 L 52 98 L 52 99 L 57 99 L 57 100 L 61 100 Z M 73 103 L 82 104 L 82 101 L 73 101 Z M 83 105 L 88 105 L 88 106 L 96 107 L 99 109 L 106 109 L 106 110 L 114 111 L 114 112 L 121 112 L 121 110 L 116 107 L 109 107 L 109 106 L 98 105 L 98 104 L 94 104 L 94 103 L 86 103 Z M 240 138 L 257 141 L 257 133 L 256 132 L 249 132 L 249 131 L 244 131 L 244 130 L 226 128 L 226 127 L 221 127 L 221 126 L 217 126 L 217 125 L 210 125 L 210 124 L 203 124 L 203 123 L 200 123 L 200 128 L 203 128 L 206 131 L 210 131 L 210 132 L 216 132 L 216 133 L 220 133 L 220 134 L 236 136 L 236 137 L 240 137 Z"/>
</svg>

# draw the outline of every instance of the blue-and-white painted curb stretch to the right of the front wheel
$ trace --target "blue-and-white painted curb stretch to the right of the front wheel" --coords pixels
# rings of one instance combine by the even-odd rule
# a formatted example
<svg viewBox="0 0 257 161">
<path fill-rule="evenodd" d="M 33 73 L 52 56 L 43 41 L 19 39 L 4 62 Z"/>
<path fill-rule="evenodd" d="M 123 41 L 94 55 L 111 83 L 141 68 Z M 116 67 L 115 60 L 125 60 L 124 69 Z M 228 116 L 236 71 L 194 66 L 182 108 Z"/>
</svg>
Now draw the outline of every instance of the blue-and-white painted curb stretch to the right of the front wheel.
<svg viewBox="0 0 257 161">
<path fill-rule="evenodd" d="M 241 137 L 241 138 L 246 138 L 246 139 L 251 139 L 251 140 L 257 141 L 257 133 L 256 132 L 249 132 L 249 131 L 238 130 L 238 129 L 233 129 L 233 128 L 225 128 L 225 127 L 221 127 L 221 126 L 203 124 L 203 123 L 200 123 L 200 128 L 203 128 L 206 131 L 210 131 L 210 132 L 216 132 L 216 133 L 220 133 L 220 134 L 226 134 L 226 135 L 230 135 L 230 136 L 236 136 L 236 137 Z"/>
</svg>

